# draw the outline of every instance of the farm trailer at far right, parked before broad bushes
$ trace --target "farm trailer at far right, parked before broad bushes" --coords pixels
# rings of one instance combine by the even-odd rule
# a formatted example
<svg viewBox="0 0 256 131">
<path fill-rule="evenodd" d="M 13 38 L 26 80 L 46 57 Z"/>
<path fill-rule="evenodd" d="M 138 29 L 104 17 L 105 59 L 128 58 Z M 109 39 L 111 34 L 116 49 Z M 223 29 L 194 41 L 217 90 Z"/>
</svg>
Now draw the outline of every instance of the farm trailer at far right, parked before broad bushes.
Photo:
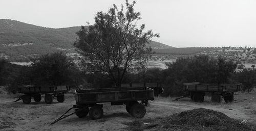
<svg viewBox="0 0 256 131">
<path fill-rule="evenodd" d="M 200 84 L 200 83 L 183 83 L 183 90 L 187 92 L 186 95 L 177 99 L 190 96 L 195 102 L 203 102 L 205 93 L 211 94 L 212 102 L 221 102 L 222 99 L 226 103 L 232 102 L 234 99 L 234 92 L 241 90 L 241 84 Z"/>
</svg>

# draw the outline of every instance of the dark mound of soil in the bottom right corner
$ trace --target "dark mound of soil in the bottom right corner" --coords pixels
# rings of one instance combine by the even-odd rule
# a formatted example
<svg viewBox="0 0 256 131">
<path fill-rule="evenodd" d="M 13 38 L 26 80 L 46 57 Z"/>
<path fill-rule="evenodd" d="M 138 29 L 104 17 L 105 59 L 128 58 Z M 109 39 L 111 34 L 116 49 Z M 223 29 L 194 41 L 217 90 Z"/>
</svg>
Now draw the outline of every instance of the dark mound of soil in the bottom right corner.
<svg viewBox="0 0 256 131">
<path fill-rule="evenodd" d="M 250 123 L 239 124 L 224 113 L 204 108 L 188 110 L 161 119 L 157 130 L 255 130 Z"/>
</svg>

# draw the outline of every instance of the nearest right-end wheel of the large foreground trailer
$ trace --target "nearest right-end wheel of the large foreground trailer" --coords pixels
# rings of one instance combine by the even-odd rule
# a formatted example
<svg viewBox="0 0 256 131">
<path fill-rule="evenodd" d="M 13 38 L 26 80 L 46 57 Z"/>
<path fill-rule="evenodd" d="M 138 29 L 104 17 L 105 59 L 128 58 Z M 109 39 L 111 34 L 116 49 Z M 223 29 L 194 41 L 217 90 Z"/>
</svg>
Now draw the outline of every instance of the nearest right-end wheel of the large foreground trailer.
<svg viewBox="0 0 256 131">
<path fill-rule="evenodd" d="M 136 118 L 142 118 L 146 114 L 146 108 L 140 103 L 135 103 L 131 107 L 131 115 Z"/>
</svg>

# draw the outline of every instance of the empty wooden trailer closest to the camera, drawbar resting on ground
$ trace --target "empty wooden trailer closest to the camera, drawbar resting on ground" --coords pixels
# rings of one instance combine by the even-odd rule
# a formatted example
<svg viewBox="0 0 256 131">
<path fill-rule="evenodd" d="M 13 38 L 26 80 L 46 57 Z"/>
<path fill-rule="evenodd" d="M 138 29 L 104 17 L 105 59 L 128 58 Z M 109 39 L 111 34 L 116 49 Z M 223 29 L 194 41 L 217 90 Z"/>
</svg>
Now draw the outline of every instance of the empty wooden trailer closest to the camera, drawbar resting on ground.
<svg viewBox="0 0 256 131">
<path fill-rule="evenodd" d="M 154 100 L 154 90 L 148 87 L 129 87 L 129 88 L 108 88 L 92 90 L 76 90 L 76 105 L 61 115 L 51 124 L 76 114 L 79 118 L 89 114 L 91 119 L 100 119 L 103 116 L 103 104 L 110 102 L 111 106 L 126 105 L 126 111 L 133 117 L 142 118 L 145 116 L 148 100 Z M 141 103 L 138 101 L 141 100 Z M 69 113 L 71 110 L 74 112 Z M 68 114 L 69 113 L 69 114 Z"/>
</svg>

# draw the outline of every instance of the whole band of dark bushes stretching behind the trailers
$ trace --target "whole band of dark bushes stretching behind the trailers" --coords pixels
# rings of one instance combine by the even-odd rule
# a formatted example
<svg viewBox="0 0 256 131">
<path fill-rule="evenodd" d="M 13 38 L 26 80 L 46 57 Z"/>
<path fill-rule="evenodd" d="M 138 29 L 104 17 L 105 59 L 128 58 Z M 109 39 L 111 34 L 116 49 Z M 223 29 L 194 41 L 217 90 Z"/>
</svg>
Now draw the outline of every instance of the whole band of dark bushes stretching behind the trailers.
<svg viewBox="0 0 256 131">
<path fill-rule="evenodd" d="M 42 55 L 31 66 L 19 66 L 0 61 L 0 85 L 8 86 L 15 92 L 18 85 L 70 85 L 91 84 L 94 88 L 116 87 L 113 79 L 103 72 L 82 70 L 65 54 Z M 178 58 L 166 63 L 167 69 L 141 68 L 125 73 L 122 83 L 161 83 L 164 95 L 182 94 L 182 84 L 186 82 L 243 84 L 243 91 L 250 92 L 256 84 L 256 70 L 235 71 L 237 63 L 224 58 L 196 55 Z M 117 74 L 115 74 L 117 75 Z"/>
</svg>

